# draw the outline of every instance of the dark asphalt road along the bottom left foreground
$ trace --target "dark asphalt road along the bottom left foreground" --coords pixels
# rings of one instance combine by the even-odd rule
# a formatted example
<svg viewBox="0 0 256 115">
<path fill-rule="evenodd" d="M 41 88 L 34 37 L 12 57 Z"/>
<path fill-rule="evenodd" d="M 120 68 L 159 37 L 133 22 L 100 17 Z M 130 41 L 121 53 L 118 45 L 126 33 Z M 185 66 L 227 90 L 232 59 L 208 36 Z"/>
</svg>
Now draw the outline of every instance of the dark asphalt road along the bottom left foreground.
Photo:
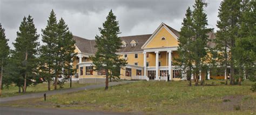
<svg viewBox="0 0 256 115">
<path fill-rule="evenodd" d="M 30 109 L 30 108 L 17 108 L 17 107 L 0 107 L 0 115 L 44 115 L 44 114 L 55 114 L 55 115 L 68 115 L 68 114 L 90 114 L 90 115 L 116 115 L 116 114 L 131 114 L 131 113 L 107 113 L 107 112 L 93 112 L 83 110 L 60 110 L 60 109 Z M 134 114 L 134 113 L 133 113 Z"/>
</svg>

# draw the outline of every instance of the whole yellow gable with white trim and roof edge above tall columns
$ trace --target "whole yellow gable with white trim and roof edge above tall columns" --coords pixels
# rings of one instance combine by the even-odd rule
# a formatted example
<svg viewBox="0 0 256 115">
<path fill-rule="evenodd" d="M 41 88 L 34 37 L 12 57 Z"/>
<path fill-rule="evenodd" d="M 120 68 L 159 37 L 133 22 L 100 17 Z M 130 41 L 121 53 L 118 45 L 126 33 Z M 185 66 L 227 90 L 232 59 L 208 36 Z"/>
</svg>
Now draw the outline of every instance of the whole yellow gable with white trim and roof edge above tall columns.
<svg viewBox="0 0 256 115">
<path fill-rule="evenodd" d="M 142 46 L 142 49 L 177 47 L 179 32 L 161 23 L 153 35 Z"/>
</svg>

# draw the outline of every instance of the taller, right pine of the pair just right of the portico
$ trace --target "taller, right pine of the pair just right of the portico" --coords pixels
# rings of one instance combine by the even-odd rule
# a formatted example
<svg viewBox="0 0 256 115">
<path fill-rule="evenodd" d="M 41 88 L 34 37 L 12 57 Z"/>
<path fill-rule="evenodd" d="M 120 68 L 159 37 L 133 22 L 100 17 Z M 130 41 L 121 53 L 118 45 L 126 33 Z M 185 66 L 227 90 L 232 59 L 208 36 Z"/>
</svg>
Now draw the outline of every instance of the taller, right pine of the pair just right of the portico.
<svg viewBox="0 0 256 115">
<path fill-rule="evenodd" d="M 202 2 L 201 0 L 196 1 L 193 5 L 192 19 L 193 19 L 193 30 L 194 30 L 194 38 L 191 44 L 192 48 L 192 58 L 194 64 L 194 73 L 196 76 L 196 85 L 198 85 L 198 77 L 200 71 L 206 66 L 205 57 L 207 56 L 207 49 L 209 42 L 208 36 L 206 35 L 211 29 L 207 29 L 207 15 L 204 12 L 204 6 L 207 4 Z M 201 84 L 204 83 L 204 80 Z"/>
</svg>

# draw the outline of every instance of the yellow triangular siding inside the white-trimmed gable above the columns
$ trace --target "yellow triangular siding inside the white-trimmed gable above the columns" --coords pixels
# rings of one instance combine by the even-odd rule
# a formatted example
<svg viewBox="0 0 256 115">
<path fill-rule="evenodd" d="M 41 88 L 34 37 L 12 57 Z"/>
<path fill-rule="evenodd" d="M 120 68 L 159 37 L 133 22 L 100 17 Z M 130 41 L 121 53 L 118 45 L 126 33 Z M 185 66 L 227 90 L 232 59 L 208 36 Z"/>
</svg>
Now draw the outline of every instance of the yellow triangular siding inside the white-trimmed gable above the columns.
<svg viewBox="0 0 256 115">
<path fill-rule="evenodd" d="M 161 40 L 165 37 L 166 40 Z M 166 46 L 173 47 L 178 46 L 178 41 L 174 38 L 169 31 L 162 27 L 156 36 L 145 46 L 145 48 L 164 48 Z"/>
</svg>

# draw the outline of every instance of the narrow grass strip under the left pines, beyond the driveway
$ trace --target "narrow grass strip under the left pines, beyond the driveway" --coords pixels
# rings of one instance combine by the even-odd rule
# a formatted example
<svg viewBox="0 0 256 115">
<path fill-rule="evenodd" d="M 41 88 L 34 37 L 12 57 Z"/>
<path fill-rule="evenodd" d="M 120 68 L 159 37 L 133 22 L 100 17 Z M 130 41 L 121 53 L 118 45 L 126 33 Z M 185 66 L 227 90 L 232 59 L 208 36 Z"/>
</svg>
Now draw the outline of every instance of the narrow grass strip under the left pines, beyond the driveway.
<svg viewBox="0 0 256 115">
<path fill-rule="evenodd" d="M 89 84 L 78 84 L 78 83 L 72 83 L 72 87 L 82 87 L 86 86 Z M 65 83 L 63 89 L 67 89 L 70 87 L 70 83 Z M 51 90 L 54 89 L 54 86 L 51 85 Z M 58 86 L 58 90 L 59 90 Z M 37 84 L 35 86 L 29 86 L 26 88 L 26 93 L 18 93 L 18 87 L 17 86 L 10 86 L 10 87 L 5 87 L 2 90 L 2 97 L 10 97 L 10 96 L 17 96 L 19 94 L 28 94 L 28 93 L 35 93 L 35 92 L 43 92 L 43 91 L 48 91 L 48 83 L 42 83 L 42 84 Z M 0 97 L 1 98 L 1 97 Z"/>
</svg>

